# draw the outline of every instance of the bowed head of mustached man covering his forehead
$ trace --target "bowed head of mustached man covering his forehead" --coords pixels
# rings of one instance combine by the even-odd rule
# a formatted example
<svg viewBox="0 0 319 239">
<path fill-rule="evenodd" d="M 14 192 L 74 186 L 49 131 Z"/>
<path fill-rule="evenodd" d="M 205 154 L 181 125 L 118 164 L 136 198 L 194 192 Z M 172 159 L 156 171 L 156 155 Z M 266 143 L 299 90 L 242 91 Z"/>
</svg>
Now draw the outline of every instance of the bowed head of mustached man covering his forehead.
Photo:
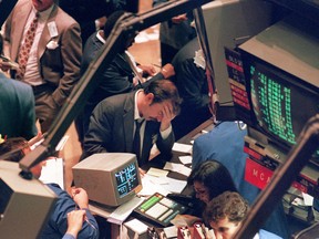
<svg viewBox="0 0 319 239">
<path fill-rule="evenodd" d="M 173 114 L 178 115 L 181 103 L 182 98 L 179 97 L 177 87 L 169 80 L 155 80 L 151 82 L 144 89 L 143 97 L 137 98 L 138 113 L 146 121 L 161 122 L 165 106 L 168 106 Z"/>
</svg>

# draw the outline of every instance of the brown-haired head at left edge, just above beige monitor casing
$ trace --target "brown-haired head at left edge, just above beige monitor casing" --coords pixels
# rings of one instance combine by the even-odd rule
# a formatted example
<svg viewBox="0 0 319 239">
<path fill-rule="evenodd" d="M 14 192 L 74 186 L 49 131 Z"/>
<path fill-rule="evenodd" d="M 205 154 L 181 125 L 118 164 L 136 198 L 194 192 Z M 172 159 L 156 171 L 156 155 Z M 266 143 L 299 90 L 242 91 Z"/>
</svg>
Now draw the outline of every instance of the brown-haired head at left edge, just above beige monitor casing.
<svg viewBox="0 0 319 239">
<path fill-rule="evenodd" d="M 0 144 L 0 159 L 19 163 L 30 152 L 29 143 L 23 137 L 8 138 Z M 43 165 L 45 162 L 41 162 L 30 169 L 35 178 L 40 177 Z"/>
</svg>

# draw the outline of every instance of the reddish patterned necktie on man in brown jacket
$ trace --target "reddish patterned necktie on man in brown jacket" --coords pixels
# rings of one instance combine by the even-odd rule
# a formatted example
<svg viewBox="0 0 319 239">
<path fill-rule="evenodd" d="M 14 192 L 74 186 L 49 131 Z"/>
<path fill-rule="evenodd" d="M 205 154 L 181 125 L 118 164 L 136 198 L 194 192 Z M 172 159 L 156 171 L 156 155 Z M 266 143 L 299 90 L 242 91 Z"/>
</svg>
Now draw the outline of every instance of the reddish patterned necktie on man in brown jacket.
<svg viewBox="0 0 319 239">
<path fill-rule="evenodd" d="M 24 73 L 25 73 L 25 66 L 29 58 L 29 53 L 35 37 L 35 31 L 38 27 L 38 19 L 39 19 L 39 13 L 35 14 L 34 19 L 32 20 L 25 35 L 24 35 L 24 42 L 20 48 L 20 52 L 18 55 L 18 63 L 20 71 L 17 72 L 16 79 L 17 80 L 23 80 Z"/>
</svg>

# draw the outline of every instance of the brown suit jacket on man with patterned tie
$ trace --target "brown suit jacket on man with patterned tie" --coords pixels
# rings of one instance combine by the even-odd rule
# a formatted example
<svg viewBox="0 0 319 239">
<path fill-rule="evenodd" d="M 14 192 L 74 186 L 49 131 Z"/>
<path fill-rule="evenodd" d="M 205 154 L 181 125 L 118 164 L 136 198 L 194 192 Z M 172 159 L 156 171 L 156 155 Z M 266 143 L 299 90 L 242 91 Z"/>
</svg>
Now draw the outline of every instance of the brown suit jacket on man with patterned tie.
<svg viewBox="0 0 319 239">
<path fill-rule="evenodd" d="M 31 10 L 32 2 L 30 0 L 20 0 L 7 19 L 3 51 L 12 60 L 18 58 L 23 29 Z M 45 24 L 38 45 L 39 71 L 44 81 L 56 86 L 52 97 L 61 106 L 80 79 L 81 30 L 78 22 L 58 6 L 53 7 L 48 19 L 49 22 L 55 22 L 58 35 L 51 38 L 48 24 Z M 59 46 L 48 49 L 47 45 L 50 41 L 55 41 Z"/>
</svg>

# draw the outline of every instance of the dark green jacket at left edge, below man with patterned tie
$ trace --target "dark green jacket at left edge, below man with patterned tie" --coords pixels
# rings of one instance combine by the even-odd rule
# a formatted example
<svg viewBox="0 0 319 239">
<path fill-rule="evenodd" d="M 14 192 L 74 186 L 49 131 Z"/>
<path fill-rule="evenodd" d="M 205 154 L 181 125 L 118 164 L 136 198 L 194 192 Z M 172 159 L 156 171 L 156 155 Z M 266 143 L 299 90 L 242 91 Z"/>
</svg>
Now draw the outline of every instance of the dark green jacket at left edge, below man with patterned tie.
<svg viewBox="0 0 319 239">
<path fill-rule="evenodd" d="M 34 96 L 30 85 L 0 73 L 0 134 L 2 137 L 37 135 Z"/>
</svg>

